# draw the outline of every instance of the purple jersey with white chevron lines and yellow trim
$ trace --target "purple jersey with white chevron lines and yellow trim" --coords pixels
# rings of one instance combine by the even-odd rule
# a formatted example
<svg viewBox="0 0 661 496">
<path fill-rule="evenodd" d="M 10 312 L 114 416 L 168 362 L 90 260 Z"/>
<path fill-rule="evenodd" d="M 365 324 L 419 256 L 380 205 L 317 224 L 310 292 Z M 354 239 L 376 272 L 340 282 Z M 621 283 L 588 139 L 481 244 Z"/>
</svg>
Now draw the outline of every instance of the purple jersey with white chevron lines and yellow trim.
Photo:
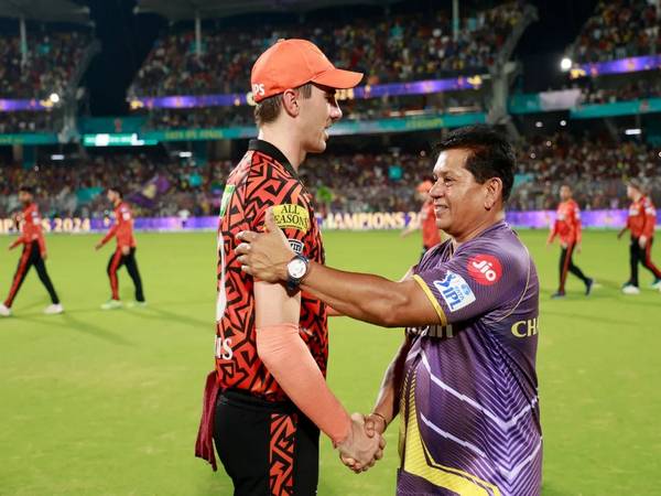
<svg viewBox="0 0 661 496">
<path fill-rule="evenodd" d="M 408 330 L 398 494 L 539 495 L 539 281 L 528 250 L 500 222 L 454 252 L 438 245 L 413 278 L 442 324 Z"/>
</svg>

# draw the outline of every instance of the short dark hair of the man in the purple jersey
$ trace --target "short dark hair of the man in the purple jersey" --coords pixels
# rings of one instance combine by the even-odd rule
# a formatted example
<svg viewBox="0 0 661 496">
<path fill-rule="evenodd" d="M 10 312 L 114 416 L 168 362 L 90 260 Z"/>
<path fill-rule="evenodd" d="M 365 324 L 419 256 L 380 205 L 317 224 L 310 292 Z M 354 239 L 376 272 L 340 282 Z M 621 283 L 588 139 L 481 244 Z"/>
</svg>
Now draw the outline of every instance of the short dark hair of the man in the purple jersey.
<svg viewBox="0 0 661 496">
<path fill-rule="evenodd" d="M 455 129 L 436 145 L 436 151 L 470 150 L 466 159 L 466 170 L 483 184 L 491 177 L 502 181 L 502 202 L 507 202 L 514 183 L 517 159 L 507 139 L 491 126 L 477 125 Z"/>
</svg>

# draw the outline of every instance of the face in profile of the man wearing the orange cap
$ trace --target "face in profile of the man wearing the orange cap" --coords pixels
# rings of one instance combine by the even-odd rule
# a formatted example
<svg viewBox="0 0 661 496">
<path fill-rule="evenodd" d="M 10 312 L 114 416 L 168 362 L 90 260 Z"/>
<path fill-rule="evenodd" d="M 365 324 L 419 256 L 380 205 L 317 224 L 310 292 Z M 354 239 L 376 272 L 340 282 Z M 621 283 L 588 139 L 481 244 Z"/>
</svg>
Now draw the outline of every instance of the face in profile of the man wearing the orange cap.
<svg viewBox="0 0 661 496">
<path fill-rule="evenodd" d="M 322 153 L 326 150 L 328 128 L 342 118 L 335 89 L 313 85 L 311 97 L 297 100 L 301 106 L 297 127 L 302 149 L 307 153 Z"/>
</svg>

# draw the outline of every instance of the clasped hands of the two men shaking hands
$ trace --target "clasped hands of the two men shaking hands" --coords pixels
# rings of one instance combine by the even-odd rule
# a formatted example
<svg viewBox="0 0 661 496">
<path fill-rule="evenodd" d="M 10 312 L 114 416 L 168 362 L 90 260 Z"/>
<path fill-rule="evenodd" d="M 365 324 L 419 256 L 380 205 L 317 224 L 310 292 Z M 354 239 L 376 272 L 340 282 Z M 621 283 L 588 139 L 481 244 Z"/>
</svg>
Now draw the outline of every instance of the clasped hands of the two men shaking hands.
<svg viewBox="0 0 661 496">
<path fill-rule="evenodd" d="M 351 416 L 351 430 L 342 443 L 337 444 L 339 460 L 356 474 L 371 468 L 383 457 L 386 419 L 378 414 Z"/>
</svg>

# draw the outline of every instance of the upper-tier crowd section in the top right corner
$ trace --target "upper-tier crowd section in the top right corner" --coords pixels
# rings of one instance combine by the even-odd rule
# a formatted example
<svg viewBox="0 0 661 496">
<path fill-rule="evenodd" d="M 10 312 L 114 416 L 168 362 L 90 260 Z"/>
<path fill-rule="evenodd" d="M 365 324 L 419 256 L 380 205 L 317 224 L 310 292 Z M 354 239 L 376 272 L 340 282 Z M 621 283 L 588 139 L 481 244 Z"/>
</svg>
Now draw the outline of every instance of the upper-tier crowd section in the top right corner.
<svg viewBox="0 0 661 496">
<path fill-rule="evenodd" d="M 576 62 L 661 53 L 661 12 L 648 0 L 599 1 L 574 45 Z"/>
</svg>

